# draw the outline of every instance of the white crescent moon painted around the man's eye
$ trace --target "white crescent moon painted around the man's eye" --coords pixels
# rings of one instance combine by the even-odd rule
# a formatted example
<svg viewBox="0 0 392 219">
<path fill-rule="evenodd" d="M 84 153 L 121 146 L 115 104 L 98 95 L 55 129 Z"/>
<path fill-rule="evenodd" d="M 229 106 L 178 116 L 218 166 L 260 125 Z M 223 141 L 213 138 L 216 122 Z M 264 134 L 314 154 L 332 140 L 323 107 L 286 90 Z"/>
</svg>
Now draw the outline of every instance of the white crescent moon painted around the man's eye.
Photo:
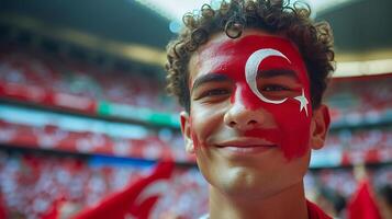
<svg viewBox="0 0 392 219">
<path fill-rule="evenodd" d="M 255 53 L 253 53 L 248 60 L 246 61 L 245 65 L 245 78 L 246 78 L 246 82 L 248 83 L 250 90 L 264 102 L 266 103 L 273 103 L 273 104 L 281 104 L 284 101 L 287 101 L 288 99 L 283 99 L 283 100 L 279 100 L 279 101 L 272 101 L 272 100 L 268 100 L 266 96 L 264 96 L 257 89 L 257 81 L 256 81 L 256 77 L 257 77 L 257 71 L 259 68 L 259 65 L 261 64 L 261 61 L 270 56 L 279 56 L 282 57 L 284 59 L 287 59 L 289 62 L 291 62 L 288 57 L 285 57 L 282 53 L 272 49 L 272 48 L 262 48 L 262 49 L 258 49 Z"/>
</svg>

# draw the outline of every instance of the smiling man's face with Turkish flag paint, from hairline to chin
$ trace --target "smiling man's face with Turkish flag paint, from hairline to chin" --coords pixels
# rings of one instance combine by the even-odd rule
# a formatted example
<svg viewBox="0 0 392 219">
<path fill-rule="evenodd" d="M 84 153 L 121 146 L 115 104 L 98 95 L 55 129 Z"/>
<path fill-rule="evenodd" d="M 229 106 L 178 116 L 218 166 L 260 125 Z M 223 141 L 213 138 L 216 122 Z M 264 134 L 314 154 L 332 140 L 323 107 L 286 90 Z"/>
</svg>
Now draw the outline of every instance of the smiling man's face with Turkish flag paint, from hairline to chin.
<svg viewBox="0 0 392 219">
<path fill-rule="evenodd" d="M 302 182 L 313 114 L 306 68 L 290 41 L 260 31 L 237 39 L 222 33 L 198 49 L 189 72 L 182 130 L 213 186 L 268 196 Z"/>
</svg>

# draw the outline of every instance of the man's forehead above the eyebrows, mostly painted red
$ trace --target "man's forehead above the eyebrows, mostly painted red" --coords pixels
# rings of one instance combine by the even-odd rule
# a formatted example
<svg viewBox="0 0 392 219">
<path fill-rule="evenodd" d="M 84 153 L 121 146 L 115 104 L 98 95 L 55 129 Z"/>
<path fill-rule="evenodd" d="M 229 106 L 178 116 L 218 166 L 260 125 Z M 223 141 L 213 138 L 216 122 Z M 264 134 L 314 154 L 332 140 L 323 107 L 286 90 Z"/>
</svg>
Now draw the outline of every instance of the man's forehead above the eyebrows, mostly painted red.
<svg viewBox="0 0 392 219">
<path fill-rule="evenodd" d="M 210 73 L 214 69 L 242 70 L 249 56 L 262 48 L 272 48 L 282 53 L 287 61 L 267 61 L 267 68 L 289 68 L 298 73 L 300 79 L 306 80 L 307 73 L 302 56 L 296 46 L 288 38 L 279 35 L 268 34 L 262 31 L 246 31 L 243 36 L 236 39 L 227 37 L 224 33 L 219 33 L 201 46 L 191 57 L 189 65 L 190 83 L 199 76 Z"/>
</svg>

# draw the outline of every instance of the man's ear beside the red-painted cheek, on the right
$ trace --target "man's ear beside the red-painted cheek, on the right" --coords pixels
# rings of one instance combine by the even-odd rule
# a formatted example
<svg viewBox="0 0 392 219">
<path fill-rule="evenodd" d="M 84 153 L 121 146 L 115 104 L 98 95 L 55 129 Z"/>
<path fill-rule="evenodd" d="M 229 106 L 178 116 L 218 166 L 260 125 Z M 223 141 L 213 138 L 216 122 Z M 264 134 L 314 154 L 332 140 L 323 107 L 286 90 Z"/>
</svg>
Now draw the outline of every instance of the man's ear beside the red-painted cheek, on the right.
<svg viewBox="0 0 392 219">
<path fill-rule="evenodd" d="M 311 147 L 314 150 L 323 148 L 326 134 L 329 128 L 329 110 L 322 104 L 318 108 L 313 111 L 311 123 Z"/>
</svg>

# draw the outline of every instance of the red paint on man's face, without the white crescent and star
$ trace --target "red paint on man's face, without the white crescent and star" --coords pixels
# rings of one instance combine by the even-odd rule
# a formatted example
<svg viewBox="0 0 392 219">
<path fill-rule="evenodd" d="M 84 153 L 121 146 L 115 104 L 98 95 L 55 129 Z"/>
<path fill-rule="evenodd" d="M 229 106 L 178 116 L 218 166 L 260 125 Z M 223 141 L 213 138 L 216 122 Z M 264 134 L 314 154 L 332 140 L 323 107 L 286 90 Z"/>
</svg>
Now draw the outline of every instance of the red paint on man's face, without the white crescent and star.
<svg viewBox="0 0 392 219">
<path fill-rule="evenodd" d="M 248 131 L 246 135 L 253 137 L 256 135 L 279 145 L 289 160 L 303 155 L 309 149 L 312 108 L 310 103 L 303 101 L 304 99 L 310 101 L 310 81 L 305 65 L 296 47 L 285 38 L 266 35 L 248 35 L 223 43 L 212 42 L 208 46 L 208 49 L 202 50 L 199 56 L 200 64 L 202 64 L 199 76 L 206 73 L 226 74 L 235 83 L 235 90 L 231 96 L 232 104 L 240 102 L 245 108 L 251 111 L 264 108 L 273 116 L 277 124 L 277 129 L 260 129 Z M 270 103 L 261 100 L 255 93 L 246 79 L 245 67 L 251 59 L 249 57 L 258 50 L 261 50 L 261 55 L 273 50 L 284 56 L 266 56 L 257 65 L 257 70 L 292 70 L 302 85 L 302 99 L 299 94 L 294 97 L 288 97 L 282 103 Z"/>
</svg>

